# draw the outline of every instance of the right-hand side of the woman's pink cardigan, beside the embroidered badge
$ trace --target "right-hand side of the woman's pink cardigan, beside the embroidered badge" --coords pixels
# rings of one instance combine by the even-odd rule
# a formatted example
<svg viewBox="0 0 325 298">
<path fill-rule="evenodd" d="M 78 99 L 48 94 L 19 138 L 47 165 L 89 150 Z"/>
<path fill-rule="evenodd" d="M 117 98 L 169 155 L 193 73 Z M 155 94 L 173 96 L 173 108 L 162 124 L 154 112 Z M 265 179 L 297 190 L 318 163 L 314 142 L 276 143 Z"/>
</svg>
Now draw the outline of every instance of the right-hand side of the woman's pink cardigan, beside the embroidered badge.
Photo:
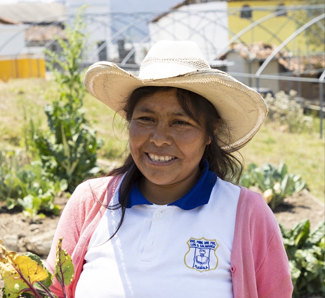
<svg viewBox="0 0 325 298">
<path fill-rule="evenodd" d="M 260 194 L 241 188 L 232 247 L 234 298 L 291 298 L 279 224 Z"/>
</svg>

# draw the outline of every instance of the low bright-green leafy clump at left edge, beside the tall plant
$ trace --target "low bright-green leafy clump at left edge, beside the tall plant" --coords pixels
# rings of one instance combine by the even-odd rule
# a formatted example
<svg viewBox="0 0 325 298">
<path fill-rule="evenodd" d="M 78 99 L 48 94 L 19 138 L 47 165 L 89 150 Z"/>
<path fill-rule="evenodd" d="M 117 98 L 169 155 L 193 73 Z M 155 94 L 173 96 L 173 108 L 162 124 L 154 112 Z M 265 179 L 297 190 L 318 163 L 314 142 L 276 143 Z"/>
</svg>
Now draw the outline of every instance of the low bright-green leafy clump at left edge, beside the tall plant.
<svg viewBox="0 0 325 298">
<path fill-rule="evenodd" d="M 22 208 L 32 222 L 45 216 L 41 211 L 59 214 L 54 197 L 66 189 L 66 180 L 51 179 L 40 161 L 23 165 L 21 156 L 13 151 L 0 152 L 0 166 L 0 200 L 6 201 L 7 209 Z"/>
</svg>

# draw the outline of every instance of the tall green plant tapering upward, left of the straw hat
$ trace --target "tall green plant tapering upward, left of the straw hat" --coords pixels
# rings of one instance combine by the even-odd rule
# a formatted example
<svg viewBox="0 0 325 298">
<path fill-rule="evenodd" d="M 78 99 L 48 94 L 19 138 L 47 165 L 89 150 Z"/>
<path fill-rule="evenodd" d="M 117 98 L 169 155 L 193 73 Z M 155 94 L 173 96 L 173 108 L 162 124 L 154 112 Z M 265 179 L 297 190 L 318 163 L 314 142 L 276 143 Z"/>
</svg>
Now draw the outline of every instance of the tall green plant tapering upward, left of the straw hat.
<svg viewBox="0 0 325 298">
<path fill-rule="evenodd" d="M 47 51 L 47 63 L 58 84 L 58 98 L 45 106 L 49 130 L 34 133 L 35 146 L 47 172 L 66 179 L 72 192 L 81 181 L 99 171 L 96 150 L 101 141 L 85 119 L 82 54 L 85 49 L 82 10 L 73 26 L 66 25 L 64 37 L 57 37 L 60 56 Z"/>
</svg>

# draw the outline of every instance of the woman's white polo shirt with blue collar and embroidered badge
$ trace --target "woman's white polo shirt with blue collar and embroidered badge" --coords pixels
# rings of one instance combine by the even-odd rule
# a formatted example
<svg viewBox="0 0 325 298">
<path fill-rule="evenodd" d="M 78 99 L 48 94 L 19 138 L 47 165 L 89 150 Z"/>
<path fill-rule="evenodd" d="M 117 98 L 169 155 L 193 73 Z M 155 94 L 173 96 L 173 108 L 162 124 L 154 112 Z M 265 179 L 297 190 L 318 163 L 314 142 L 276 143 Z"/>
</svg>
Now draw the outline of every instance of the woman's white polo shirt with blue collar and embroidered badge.
<svg viewBox="0 0 325 298">
<path fill-rule="evenodd" d="M 204 187 L 204 188 L 202 188 Z M 135 185 L 123 225 L 107 209 L 90 240 L 76 298 L 233 298 L 231 251 L 240 189 L 207 170 L 170 205 Z M 110 205 L 118 203 L 114 195 Z"/>
</svg>

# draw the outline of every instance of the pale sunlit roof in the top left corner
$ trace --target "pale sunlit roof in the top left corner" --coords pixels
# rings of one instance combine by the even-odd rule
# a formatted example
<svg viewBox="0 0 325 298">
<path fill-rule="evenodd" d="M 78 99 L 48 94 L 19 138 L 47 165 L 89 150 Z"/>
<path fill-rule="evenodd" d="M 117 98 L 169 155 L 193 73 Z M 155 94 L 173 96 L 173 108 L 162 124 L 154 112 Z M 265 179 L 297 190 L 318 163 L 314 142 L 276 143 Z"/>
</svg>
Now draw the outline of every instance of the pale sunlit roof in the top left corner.
<svg viewBox="0 0 325 298">
<path fill-rule="evenodd" d="M 22 23 L 66 21 L 65 6 L 59 2 L 21 2 L 0 5 L 0 18 Z"/>
</svg>

